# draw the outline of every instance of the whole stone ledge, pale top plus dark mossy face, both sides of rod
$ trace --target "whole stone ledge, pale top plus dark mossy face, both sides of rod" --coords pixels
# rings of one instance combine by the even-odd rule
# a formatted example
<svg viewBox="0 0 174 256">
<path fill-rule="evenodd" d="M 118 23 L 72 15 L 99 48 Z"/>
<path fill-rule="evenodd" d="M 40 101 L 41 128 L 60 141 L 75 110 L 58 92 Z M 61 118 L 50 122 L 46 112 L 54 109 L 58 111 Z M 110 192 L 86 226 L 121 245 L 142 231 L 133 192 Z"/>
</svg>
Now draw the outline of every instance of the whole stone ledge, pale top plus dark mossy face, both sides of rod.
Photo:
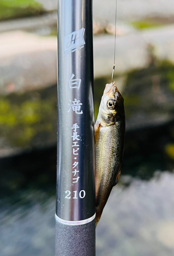
<svg viewBox="0 0 174 256">
<path fill-rule="evenodd" d="M 0 34 L 0 42 L 0 156 L 56 144 L 57 38 L 15 31 Z M 127 130 L 173 119 L 173 42 L 173 26 L 117 38 L 115 78 Z M 113 53 L 114 36 L 94 37 L 95 117 Z"/>
</svg>

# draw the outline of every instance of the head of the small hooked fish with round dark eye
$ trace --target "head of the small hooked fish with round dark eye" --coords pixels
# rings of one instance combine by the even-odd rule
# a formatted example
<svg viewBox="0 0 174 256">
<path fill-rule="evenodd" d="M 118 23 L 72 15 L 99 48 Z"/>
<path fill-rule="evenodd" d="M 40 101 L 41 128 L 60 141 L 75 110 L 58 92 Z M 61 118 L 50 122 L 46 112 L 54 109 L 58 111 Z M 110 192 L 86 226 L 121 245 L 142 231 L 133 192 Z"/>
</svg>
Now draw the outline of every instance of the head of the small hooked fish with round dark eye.
<svg viewBox="0 0 174 256">
<path fill-rule="evenodd" d="M 118 91 L 115 82 L 107 83 L 96 123 L 100 123 L 102 126 L 116 123 L 125 114 L 123 102 L 123 97 Z"/>
</svg>

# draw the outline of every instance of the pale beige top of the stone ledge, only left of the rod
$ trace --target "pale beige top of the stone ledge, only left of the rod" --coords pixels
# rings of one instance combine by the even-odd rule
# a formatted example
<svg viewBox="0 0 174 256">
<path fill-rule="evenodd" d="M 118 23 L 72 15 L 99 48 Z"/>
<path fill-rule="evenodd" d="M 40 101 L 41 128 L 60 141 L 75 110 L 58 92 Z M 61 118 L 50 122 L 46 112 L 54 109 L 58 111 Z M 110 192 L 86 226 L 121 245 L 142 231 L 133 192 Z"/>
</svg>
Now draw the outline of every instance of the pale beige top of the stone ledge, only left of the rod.
<svg viewBox="0 0 174 256">
<path fill-rule="evenodd" d="M 15 31 L 0 34 L 0 93 L 57 83 L 57 39 Z"/>
</svg>

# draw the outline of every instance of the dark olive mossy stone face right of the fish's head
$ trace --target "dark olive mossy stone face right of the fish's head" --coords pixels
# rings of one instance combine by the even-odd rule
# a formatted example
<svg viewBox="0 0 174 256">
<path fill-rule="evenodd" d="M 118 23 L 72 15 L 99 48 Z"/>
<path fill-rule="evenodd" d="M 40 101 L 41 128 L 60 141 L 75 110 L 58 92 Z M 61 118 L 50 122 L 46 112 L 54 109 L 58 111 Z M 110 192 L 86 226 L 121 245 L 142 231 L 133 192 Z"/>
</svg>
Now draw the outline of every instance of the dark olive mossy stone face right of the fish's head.
<svg viewBox="0 0 174 256">
<path fill-rule="evenodd" d="M 147 68 L 127 74 L 124 92 L 127 119 L 135 115 L 172 117 L 174 109 L 174 66 L 155 57 Z"/>
</svg>

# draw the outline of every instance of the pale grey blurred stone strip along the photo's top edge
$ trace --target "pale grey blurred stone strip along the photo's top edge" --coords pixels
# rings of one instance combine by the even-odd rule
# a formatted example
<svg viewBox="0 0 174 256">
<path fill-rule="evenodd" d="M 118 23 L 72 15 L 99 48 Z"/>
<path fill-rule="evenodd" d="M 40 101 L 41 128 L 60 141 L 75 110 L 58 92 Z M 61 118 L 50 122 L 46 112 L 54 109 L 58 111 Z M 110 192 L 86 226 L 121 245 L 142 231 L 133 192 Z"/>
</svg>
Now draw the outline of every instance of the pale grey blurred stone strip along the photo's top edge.
<svg viewBox="0 0 174 256">
<path fill-rule="evenodd" d="M 38 0 L 47 10 L 57 9 L 57 0 Z M 93 0 L 93 18 L 95 22 L 114 24 L 115 0 Z M 174 15 L 174 3 L 172 0 L 119 0 L 117 3 L 117 18 L 129 21 L 145 17 L 169 17 Z"/>
</svg>

